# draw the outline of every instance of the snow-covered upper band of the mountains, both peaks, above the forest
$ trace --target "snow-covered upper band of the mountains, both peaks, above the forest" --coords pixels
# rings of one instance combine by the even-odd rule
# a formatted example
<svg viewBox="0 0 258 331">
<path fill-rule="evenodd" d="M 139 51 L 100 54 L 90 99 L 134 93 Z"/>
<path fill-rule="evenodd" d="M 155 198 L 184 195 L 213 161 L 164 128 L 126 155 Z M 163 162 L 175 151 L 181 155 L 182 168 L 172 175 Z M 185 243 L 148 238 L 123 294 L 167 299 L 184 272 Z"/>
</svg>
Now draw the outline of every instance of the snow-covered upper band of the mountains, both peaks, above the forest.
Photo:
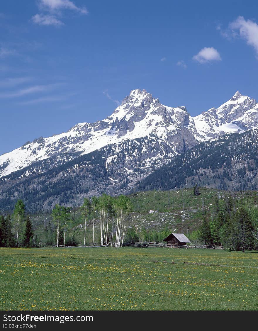
<svg viewBox="0 0 258 331">
<path fill-rule="evenodd" d="M 107 145 L 148 136 L 157 138 L 159 148 L 152 153 L 148 150 L 146 159 L 162 160 L 181 154 L 201 141 L 226 133 L 243 132 L 257 125 L 258 104 L 238 91 L 218 109 L 211 108 L 191 117 L 185 107 L 168 107 L 146 90 L 132 90 L 113 114 L 101 121 L 79 123 L 68 132 L 40 137 L 1 155 L 0 177 L 49 158 L 55 159 L 53 167 Z M 107 164 L 111 160 L 112 157 Z M 24 175 L 29 175 L 30 171 L 31 167 Z"/>
</svg>

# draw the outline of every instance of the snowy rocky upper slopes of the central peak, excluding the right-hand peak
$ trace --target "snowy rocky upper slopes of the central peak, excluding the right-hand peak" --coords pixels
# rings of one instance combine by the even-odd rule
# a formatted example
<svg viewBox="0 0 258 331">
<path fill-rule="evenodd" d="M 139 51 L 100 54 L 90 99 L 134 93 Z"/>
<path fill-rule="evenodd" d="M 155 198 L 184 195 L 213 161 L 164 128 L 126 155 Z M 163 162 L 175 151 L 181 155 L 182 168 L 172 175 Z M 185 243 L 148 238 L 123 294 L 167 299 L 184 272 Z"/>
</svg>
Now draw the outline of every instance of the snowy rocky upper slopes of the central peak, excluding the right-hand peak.
<svg viewBox="0 0 258 331">
<path fill-rule="evenodd" d="M 187 128 L 188 123 L 189 115 L 184 107 L 167 107 L 146 90 L 133 90 L 111 116 L 101 121 L 79 123 L 68 132 L 40 137 L 0 156 L 0 177 L 53 156 L 62 159 L 66 154 L 72 160 L 104 146 L 150 134 L 165 141 L 176 155 L 185 146 L 190 148 L 197 143 Z M 64 161 L 67 162 L 67 157 Z"/>
</svg>

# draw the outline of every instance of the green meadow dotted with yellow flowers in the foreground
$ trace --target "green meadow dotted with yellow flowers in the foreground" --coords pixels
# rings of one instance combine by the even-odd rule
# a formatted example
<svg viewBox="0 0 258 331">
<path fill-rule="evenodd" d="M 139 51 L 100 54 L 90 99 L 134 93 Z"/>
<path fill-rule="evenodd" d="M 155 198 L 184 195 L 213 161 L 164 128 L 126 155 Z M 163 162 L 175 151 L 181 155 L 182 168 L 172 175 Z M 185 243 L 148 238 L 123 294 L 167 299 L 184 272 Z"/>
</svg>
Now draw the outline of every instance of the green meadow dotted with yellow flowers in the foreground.
<svg viewBox="0 0 258 331">
<path fill-rule="evenodd" d="M 0 292 L 0 310 L 257 310 L 258 253 L 1 248 Z"/>
</svg>

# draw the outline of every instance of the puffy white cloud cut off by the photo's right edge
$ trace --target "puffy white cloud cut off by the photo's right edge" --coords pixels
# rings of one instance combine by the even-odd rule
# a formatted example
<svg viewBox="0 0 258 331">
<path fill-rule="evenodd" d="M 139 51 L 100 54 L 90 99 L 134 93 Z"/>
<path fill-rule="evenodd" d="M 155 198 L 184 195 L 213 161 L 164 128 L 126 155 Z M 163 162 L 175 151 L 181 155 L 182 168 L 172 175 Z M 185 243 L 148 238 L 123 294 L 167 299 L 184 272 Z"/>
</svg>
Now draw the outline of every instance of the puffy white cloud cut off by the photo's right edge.
<svg viewBox="0 0 258 331">
<path fill-rule="evenodd" d="M 229 24 L 229 27 L 233 33 L 239 33 L 240 38 L 245 39 L 247 44 L 252 46 L 258 54 L 258 25 L 255 22 L 239 16 Z"/>
</svg>

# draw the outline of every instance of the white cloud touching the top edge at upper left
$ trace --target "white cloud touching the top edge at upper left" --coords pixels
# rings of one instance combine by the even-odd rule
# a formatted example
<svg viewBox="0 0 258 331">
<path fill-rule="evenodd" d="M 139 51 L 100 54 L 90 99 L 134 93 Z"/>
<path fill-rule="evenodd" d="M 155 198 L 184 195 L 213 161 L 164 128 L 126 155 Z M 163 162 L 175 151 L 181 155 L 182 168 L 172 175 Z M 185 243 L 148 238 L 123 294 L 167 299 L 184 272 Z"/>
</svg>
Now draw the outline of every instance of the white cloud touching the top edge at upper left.
<svg viewBox="0 0 258 331">
<path fill-rule="evenodd" d="M 77 7 L 70 0 L 38 0 L 38 7 L 40 13 L 32 16 L 31 20 L 39 25 L 64 25 L 59 19 L 64 10 L 72 10 L 83 15 L 88 14 L 85 7 Z"/>
</svg>

